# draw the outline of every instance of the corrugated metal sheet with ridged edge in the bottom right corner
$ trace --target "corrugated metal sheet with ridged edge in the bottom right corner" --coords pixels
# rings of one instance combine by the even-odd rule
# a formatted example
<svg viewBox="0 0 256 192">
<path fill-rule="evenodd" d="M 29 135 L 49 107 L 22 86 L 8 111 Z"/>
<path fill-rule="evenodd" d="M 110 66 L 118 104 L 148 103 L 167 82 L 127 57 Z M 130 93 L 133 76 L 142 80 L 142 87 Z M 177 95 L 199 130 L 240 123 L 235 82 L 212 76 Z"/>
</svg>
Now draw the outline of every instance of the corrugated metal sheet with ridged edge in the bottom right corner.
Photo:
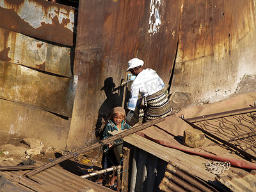
<svg viewBox="0 0 256 192">
<path fill-rule="evenodd" d="M 240 172 L 236 176 L 216 177 L 222 184 L 227 186 L 231 191 L 256 191 L 256 171 L 250 173 Z"/>
</svg>

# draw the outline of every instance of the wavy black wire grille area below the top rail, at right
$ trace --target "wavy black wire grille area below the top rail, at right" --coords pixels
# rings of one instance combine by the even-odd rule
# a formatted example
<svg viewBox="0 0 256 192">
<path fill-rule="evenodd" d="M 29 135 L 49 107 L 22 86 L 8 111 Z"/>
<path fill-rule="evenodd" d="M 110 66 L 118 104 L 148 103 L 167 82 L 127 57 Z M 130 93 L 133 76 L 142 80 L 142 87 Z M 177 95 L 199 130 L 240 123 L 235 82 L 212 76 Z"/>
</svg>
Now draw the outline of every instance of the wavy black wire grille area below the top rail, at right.
<svg viewBox="0 0 256 192">
<path fill-rule="evenodd" d="M 195 125 L 256 157 L 256 112 L 231 114 Z"/>
</svg>

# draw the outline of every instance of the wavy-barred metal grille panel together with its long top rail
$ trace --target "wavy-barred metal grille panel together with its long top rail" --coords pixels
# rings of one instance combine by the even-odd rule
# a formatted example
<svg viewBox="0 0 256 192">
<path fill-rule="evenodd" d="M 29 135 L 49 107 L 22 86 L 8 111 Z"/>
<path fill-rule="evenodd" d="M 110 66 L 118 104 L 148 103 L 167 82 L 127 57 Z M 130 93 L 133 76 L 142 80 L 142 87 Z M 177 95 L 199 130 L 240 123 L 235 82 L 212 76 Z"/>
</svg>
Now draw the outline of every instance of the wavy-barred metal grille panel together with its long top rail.
<svg viewBox="0 0 256 192">
<path fill-rule="evenodd" d="M 225 141 L 245 157 L 256 160 L 256 108 L 237 109 L 187 119 L 204 131 Z"/>
</svg>

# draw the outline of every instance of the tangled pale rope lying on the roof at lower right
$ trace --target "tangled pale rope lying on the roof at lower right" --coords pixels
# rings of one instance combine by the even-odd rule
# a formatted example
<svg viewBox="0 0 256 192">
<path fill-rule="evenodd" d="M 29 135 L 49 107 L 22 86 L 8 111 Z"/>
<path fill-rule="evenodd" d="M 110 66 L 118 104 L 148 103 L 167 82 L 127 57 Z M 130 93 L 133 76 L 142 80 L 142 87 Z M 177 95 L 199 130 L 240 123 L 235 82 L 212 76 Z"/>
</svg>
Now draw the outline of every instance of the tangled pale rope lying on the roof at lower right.
<svg viewBox="0 0 256 192">
<path fill-rule="evenodd" d="M 216 175 L 223 174 L 225 170 L 229 170 L 230 168 L 229 161 L 226 161 L 226 162 L 212 161 L 211 163 L 210 161 L 207 160 L 207 162 L 208 163 L 205 163 L 206 170 Z"/>
</svg>

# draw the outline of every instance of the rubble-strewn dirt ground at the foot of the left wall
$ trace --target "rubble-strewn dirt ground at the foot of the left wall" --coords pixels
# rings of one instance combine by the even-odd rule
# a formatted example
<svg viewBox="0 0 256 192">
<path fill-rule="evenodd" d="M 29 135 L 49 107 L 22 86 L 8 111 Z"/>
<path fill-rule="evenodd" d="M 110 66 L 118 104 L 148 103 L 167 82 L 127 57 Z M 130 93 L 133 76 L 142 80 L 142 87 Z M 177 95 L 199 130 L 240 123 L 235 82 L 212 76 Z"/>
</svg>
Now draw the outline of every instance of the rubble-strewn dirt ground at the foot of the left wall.
<svg viewBox="0 0 256 192">
<path fill-rule="evenodd" d="M 56 148 L 44 147 L 41 154 L 31 156 L 26 155 L 26 150 L 30 147 L 21 141 L 24 138 L 17 136 L 10 136 L 4 133 L 0 133 L 0 161 L 6 161 L 9 159 L 20 159 L 22 161 L 28 161 L 28 158 L 40 161 L 43 163 L 49 163 L 53 159 L 61 157 L 70 152 L 61 152 Z M 71 152 L 72 153 L 72 152 Z M 66 161 L 61 162 L 59 165 L 65 170 L 72 172 L 76 175 L 85 175 L 86 173 L 94 172 L 95 170 L 101 170 L 102 150 L 97 148 L 95 150 L 86 152 L 77 157 L 72 157 Z M 92 178 L 95 181 L 97 177 Z"/>
</svg>

